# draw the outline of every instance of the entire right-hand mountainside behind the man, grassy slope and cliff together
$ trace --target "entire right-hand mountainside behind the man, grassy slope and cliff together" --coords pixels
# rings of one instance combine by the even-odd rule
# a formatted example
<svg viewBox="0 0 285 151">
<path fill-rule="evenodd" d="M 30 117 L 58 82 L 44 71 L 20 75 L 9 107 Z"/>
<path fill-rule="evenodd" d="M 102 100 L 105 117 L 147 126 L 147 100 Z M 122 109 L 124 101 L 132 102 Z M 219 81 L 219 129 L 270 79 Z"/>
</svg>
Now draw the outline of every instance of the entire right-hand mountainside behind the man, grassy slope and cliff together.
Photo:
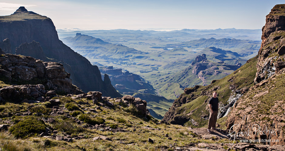
<svg viewBox="0 0 285 151">
<path fill-rule="evenodd" d="M 216 91 L 220 100 L 217 127 L 236 133 L 250 131 L 249 135 L 243 133 L 246 139 L 279 141 L 264 144 L 285 144 L 284 17 L 285 5 L 274 6 L 263 27 L 259 55 L 208 86 L 186 88 L 163 121 L 190 127 L 205 126 L 209 116 L 208 99 Z"/>
</svg>

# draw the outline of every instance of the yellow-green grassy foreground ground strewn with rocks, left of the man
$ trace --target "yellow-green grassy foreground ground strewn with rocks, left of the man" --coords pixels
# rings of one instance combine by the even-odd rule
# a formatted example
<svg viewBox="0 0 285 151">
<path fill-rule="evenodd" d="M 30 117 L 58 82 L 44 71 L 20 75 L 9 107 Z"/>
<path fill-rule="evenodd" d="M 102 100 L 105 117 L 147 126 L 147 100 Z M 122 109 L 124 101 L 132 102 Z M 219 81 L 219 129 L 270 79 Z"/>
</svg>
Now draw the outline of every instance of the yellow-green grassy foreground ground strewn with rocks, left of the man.
<svg viewBox="0 0 285 151">
<path fill-rule="evenodd" d="M 62 104 L 60 107 L 65 106 L 65 101 L 71 100 L 73 103 L 83 101 L 89 102 L 92 104 L 91 100 L 72 100 L 70 98 L 61 98 Z M 118 104 L 116 104 L 118 105 Z M 2 121 L 0 124 L 3 124 L 4 121 L 11 121 L 12 123 L 17 123 L 20 119 L 25 119 L 29 117 L 35 117 L 34 115 L 30 116 L 14 116 L 16 113 L 27 112 L 29 108 L 33 106 L 45 106 L 45 103 L 37 103 L 37 104 L 15 104 L 7 102 L 6 104 L 0 105 L 0 116 Z M 84 136 L 85 139 L 74 140 L 73 142 L 65 142 L 53 140 L 51 138 L 43 138 L 37 137 L 28 137 L 26 139 L 16 139 L 13 135 L 10 135 L 9 132 L 0 132 L 0 148 L 4 150 L 18 150 L 18 151 L 44 151 L 44 150 L 156 150 L 162 148 L 169 148 L 172 150 L 173 148 L 169 147 L 169 145 L 176 143 L 175 146 L 186 146 L 190 143 L 227 143 L 228 140 L 204 140 L 196 137 L 196 134 L 189 131 L 186 127 L 179 125 L 166 125 L 166 124 L 157 124 L 156 120 L 145 120 L 144 118 L 139 118 L 134 116 L 131 112 L 127 112 L 126 108 L 114 108 L 114 109 L 105 109 L 102 108 L 102 111 L 98 111 L 98 113 L 90 112 L 89 109 L 96 108 L 97 105 L 85 105 L 81 106 L 80 109 L 85 113 L 85 115 L 96 116 L 104 118 L 106 126 L 111 126 L 115 124 L 119 129 L 125 130 L 119 132 L 112 132 L 109 130 L 103 130 L 102 128 L 98 129 L 88 129 L 82 128 L 83 124 L 77 124 L 75 119 L 70 117 L 62 116 L 62 115 L 52 115 L 47 114 L 40 116 L 41 119 L 54 118 L 56 120 L 55 123 L 45 122 L 47 126 L 51 126 L 58 130 L 56 135 L 63 135 L 64 133 L 69 133 L 72 137 L 76 136 Z M 10 111 L 12 114 L 9 114 Z M 63 110 L 66 113 L 71 113 L 66 109 Z M 78 116 L 76 117 L 78 119 Z M 123 118 L 125 122 L 119 122 Z M 67 125 L 58 126 L 60 123 L 69 123 Z M 9 124 L 11 125 L 11 124 Z M 152 128 L 156 128 L 154 130 L 148 130 L 143 128 L 143 126 L 149 126 Z M 102 130 L 101 130 L 102 129 Z M 184 134 L 188 132 L 189 134 Z M 172 137 L 172 140 L 167 139 L 165 134 L 168 134 L 169 137 Z M 112 139 L 109 140 L 97 140 L 93 141 L 93 137 L 97 137 L 99 135 L 104 135 Z M 148 143 L 148 138 L 154 140 L 154 143 Z"/>
</svg>

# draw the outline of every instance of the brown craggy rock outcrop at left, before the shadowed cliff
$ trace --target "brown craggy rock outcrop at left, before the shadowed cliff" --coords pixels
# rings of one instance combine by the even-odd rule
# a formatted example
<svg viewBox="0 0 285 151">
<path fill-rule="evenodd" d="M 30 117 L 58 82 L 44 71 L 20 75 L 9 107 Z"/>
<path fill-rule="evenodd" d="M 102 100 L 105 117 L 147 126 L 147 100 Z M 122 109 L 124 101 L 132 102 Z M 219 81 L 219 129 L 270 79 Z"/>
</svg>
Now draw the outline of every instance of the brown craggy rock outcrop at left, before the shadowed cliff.
<svg viewBox="0 0 285 151">
<path fill-rule="evenodd" d="M 60 63 L 43 62 L 29 56 L 5 54 L 0 57 L 0 73 L 7 81 L 16 83 L 37 83 L 48 89 L 68 94 L 82 93 L 72 85 L 70 74 Z"/>
</svg>

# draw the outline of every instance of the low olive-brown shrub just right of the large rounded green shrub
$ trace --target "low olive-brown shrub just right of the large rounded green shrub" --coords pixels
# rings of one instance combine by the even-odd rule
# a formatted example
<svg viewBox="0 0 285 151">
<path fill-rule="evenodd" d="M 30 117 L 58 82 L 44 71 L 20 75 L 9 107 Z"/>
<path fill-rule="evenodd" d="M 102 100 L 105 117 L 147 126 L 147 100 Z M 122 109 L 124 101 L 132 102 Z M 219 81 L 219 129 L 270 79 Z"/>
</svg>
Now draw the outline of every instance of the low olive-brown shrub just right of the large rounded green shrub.
<svg viewBox="0 0 285 151">
<path fill-rule="evenodd" d="M 62 122 L 56 122 L 54 124 L 54 128 L 56 130 L 63 131 L 63 132 L 65 132 L 68 135 L 71 135 L 72 133 L 80 133 L 80 132 L 84 131 L 84 129 L 81 126 L 79 126 L 72 119 L 65 119 Z"/>
</svg>

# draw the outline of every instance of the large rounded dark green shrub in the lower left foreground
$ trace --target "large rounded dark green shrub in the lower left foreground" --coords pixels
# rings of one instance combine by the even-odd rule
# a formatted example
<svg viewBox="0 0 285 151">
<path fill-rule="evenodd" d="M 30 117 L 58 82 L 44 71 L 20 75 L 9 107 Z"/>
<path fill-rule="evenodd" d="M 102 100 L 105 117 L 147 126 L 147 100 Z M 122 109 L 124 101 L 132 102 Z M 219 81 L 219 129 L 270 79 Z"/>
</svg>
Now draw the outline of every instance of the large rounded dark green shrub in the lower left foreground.
<svg viewBox="0 0 285 151">
<path fill-rule="evenodd" d="M 31 116 L 13 125 L 9 131 L 17 138 L 27 138 L 30 133 L 45 131 L 45 122 Z"/>
</svg>

